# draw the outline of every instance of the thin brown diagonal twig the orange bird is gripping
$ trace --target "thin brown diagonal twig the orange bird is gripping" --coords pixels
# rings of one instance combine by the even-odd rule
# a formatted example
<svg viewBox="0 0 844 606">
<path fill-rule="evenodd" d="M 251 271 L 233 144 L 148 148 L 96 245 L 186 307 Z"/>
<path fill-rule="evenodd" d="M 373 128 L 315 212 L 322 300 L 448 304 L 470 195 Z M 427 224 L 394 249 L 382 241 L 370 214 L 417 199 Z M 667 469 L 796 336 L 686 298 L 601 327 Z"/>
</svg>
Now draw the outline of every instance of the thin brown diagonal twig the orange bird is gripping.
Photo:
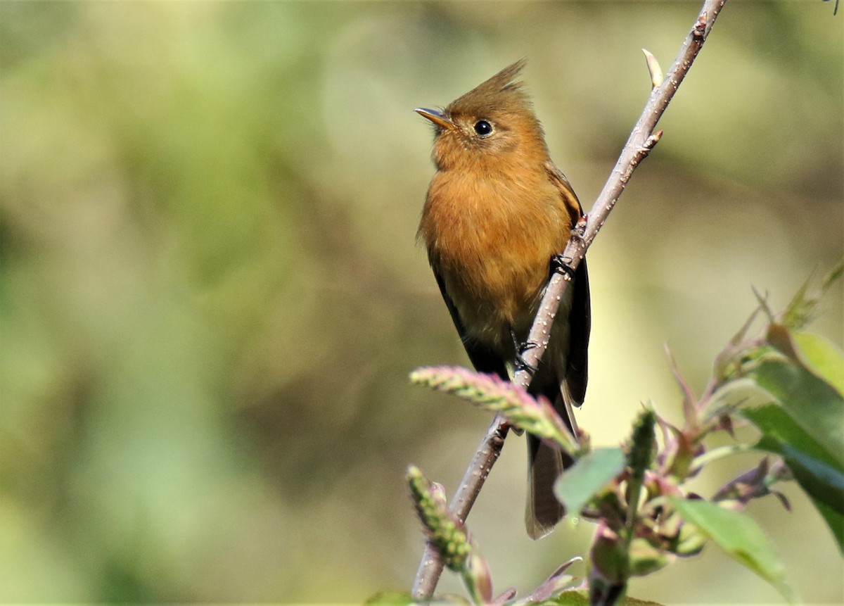
<svg viewBox="0 0 844 606">
<path fill-rule="evenodd" d="M 652 89 L 645 109 L 642 111 L 639 121 L 636 122 L 636 126 L 633 127 L 630 138 L 627 139 L 627 143 L 621 150 L 619 160 L 615 164 L 609 180 L 603 186 L 602 192 L 587 214 L 587 220 L 578 224 L 576 230 L 572 232 L 571 239 L 565 246 L 565 252 L 562 255 L 571 272 L 555 273 L 549 280 L 537 316 L 527 336 L 527 343 L 538 344 L 538 346 L 522 351 L 522 358 L 527 364 L 523 365 L 523 369 L 517 371 L 516 375 L 513 376 L 514 383 L 522 385 L 522 387 L 527 387 L 530 384 L 531 375 L 525 369 L 529 366 L 535 368 L 542 354 L 544 354 L 548 345 L 551 324 L 554 322 L 565 289 L 571 282 L 570 273 L 574 275 L 574 269 L 586 255 L 587 249 L 595 236 L 598 235 L 598 230 L 601 229 L 609 216 L 609 212 L 618 202 L 621 192 L 624 191 L 627 181 L 630 180 L 630 175 L 633 174 L 633 170 L 636 170 L 636 166 L 647 157 L 647 154 L 650 153 L 662 136 L 662 131 L 654 133 L 653 129 L 657 126 L 659 118 L 662 117 L 668 102 L 674 97 L 674 93 L 677 92 L 686 73 L 689 72 L 692 62 L 695 61 L 697 53 L 701 51 L 701 47 L 706 41 L 706 36 L 712 29 L 712 24 L 715 23 L 715 19 L 726 2 L 727 0 L 706 0 L 703 3 L 701 13 L 698 15 L 689 35 L 686 36 L 683 46 L 680 47 L 674 65 L 668 70 L 663 83 L 658 88 Z M 484 441 L 481 442 L 472 463 L 466 470 L 463 482 L 461 482 L 449 506 L 450 510 L 461 521 L 465 521 L 468 516 L 468 512 L 483 487 L 490 468 L 495 464 L 504 444 L 507 429 L 504 419 L 496 417 L 493 424 L 490 425 L 490 429 L 487 430 Z M 423 555 L 419 564 L 419 571 L 416 573 L 412 590 L 414 599 L 428 599 L 433 595 L 442 567 L 442 561 L 435 550 L 427 545 L 425 555 Z"/>
</svg>

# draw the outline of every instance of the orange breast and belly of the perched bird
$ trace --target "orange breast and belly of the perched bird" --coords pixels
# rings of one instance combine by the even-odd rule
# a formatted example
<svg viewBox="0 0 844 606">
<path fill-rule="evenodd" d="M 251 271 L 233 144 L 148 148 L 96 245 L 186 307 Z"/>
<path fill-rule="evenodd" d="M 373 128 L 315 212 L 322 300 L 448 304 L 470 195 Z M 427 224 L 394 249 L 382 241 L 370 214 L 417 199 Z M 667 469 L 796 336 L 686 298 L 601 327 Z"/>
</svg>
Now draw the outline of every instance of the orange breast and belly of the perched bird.
<svg viewBox="0 0 844 606">
<path fill-rule="evenodd" d="M 438 172 L 419 225 L 468 335 L 502 354 L 512 349 L 511 328 L 522 338 L 527 332 L 549 259 L 570 232 L 568 210 L 544 171 L 533 179 Z"/>
</svg>

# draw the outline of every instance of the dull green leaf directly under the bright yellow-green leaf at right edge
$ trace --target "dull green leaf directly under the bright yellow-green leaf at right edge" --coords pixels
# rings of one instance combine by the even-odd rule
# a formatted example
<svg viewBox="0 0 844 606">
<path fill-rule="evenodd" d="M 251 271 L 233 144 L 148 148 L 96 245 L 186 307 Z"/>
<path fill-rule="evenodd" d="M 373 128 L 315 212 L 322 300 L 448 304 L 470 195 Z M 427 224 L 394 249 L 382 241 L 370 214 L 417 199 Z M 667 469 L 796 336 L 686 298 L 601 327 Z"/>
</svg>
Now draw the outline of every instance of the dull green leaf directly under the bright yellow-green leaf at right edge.
<svg viewBox="0 0 844 606">
<path fill-rule="evenodd" d="M 794 421 L 844 465 L 844 398 L 828 383 L 781 358 L 762 360 L 756 382 L 766 389 Z"/>
</svg>

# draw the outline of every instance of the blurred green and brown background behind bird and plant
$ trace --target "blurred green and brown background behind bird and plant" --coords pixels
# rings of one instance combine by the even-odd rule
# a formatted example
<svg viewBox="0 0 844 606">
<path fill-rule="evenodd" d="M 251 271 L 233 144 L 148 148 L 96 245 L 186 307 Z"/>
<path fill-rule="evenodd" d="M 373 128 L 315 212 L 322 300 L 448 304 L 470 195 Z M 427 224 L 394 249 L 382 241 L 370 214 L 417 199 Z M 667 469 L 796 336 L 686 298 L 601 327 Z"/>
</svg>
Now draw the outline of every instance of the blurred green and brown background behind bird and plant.
<svg viewBox="0 0 844 606">
<path fill-rule="evenodd" d="M 467 364 L 414 245 L 415 106 L 520 57 L 588 208 L 699 3 L 0 3 L 0 599 L 360 602 L 408 588 L 417 463 L 450 493 L 488 415 L 408 386 Z M 728 3 L 590 252 L 596 445 L 679 416 L 755 306 L 844 253 L 844 29 Z M 814 332 L 842 342 L 842 289 Z M 470 517 L 496 588 L 583 554 L 531 542 L 512 436 Z M 754 457 L 701 478 L 711 494 Z M 720 474 L 719 474 L 720 473 Z M 797 490 L 751 506 L 809 602 L 841 560 Z M 582 567 L 576 570 L 582 573 Z M 459 587 L 446 575 L 444 590 Z M 778 603 L 716 548 L 637 581 Z"/>
</svg>

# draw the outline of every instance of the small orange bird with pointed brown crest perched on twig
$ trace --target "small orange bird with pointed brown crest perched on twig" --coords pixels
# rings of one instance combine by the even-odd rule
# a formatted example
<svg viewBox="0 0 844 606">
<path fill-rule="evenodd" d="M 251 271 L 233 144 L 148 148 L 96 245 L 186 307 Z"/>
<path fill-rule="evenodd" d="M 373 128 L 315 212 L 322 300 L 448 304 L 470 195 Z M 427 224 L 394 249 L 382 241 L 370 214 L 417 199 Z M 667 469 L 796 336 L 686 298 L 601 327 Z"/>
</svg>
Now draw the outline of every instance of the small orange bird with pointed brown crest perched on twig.
<svg viewBox="0 0 844 606">
<path fill-rule="evenodd" d="M 523 67 L 524 60 L 513 63 L 444 111 L 416 110 L 434 124 L 436 165 L 419 238 L 475 370 L 504 379 L 522 364 L 539 300 L 559 267 L 555 257 L 582 217 L 522 84 L 513 81 Z M 590 328 L 585 261 L 566 293 L 529 391 L 549 398 L 576 434 L 571 407 L 586 394 Z M 565 515 L 553 487 L 571 460 L 527 440 L 525 522 L 541 538 Z"/>
</svg>

